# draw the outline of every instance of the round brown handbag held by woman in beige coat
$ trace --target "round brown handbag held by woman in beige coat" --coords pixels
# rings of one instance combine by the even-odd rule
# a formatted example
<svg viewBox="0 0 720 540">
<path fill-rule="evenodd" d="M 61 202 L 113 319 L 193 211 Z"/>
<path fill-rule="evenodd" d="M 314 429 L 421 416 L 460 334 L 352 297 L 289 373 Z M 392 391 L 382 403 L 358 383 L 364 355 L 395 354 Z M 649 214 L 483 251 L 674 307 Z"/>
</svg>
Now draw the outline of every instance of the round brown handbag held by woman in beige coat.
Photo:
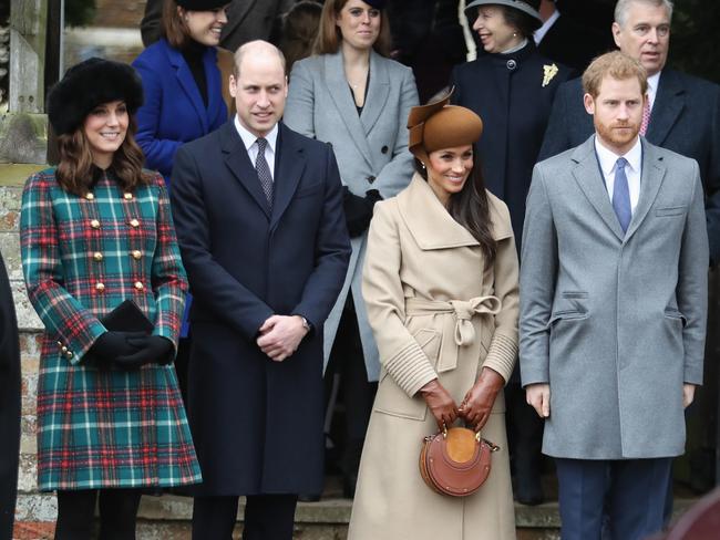
<svg viewBox="0 0 720 540">
<path fill-rule="evenodd" d="M 498 446 L 466 427 L 443 428 L 424 438 L 420 451 L 420 474 L 441 495 L 466 497 L 490 475 L 490 457 Z"/>
</svg>

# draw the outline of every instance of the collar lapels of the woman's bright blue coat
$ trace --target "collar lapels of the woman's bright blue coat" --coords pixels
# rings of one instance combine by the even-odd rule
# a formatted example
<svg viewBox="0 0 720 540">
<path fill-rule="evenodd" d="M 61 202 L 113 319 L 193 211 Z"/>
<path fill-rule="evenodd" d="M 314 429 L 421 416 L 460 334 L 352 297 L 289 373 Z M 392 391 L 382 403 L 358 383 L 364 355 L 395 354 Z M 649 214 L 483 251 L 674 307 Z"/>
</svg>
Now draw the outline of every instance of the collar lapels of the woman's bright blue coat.
<svg viewBox="0 0 720 540">
<path fill-rule="evenodd" d="M 169 60 L 171 65 L 175 70 L 175 76 L 178 84 L 187 95 L 187 98 L 193 104 L 193 108 L 197 113 L 197 117 L 203 126 L 203 133 L 209 132 L 208 118 L 215 118 L 218 115 L 219 107 L 223 105 L 223 94 L 220 92 L 220 74 L 217 68 L 217 51 L 213 46 L 208 46 L 203 54 L 203 68 L 205 69 L 205 80 L 207 81 L 207 108 L 203 102 L 200 91 L 197 89 L 193 72 L 191 72 L 187 62 L 183 58 L 183 53 L 171 46 L 169 43 L 163 38 L 162 41 L 165 46 L 165 52 Z"/>
</svg>

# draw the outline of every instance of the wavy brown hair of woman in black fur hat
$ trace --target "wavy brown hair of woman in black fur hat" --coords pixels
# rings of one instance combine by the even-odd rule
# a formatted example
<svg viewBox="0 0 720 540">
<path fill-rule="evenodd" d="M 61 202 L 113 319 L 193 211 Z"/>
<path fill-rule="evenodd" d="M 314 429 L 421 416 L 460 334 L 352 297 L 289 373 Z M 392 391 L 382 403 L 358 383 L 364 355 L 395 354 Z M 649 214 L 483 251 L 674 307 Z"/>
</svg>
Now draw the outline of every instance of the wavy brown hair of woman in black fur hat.
<svg viewBox="0 0 720 540">
<path fill-rule="evenodd" d="M 143 150 L 135 143 L 134 135 L 136 131 L 135 117 L 131 115 L 125 141 L 113 155 L 112 168 L 120 187 L 125 191 L 132 191 L 137 186 L 147 185 L 153 178 L 152 175 L 143 172 L 145 157 Z M 85 195 L 93 180 L 94 165 L 83 125 L 72 133 L 58 136 L 58 153 L 60 154 L 60 163 L 55 170 L 58 184 L 71 194 Z"/>
</svg>

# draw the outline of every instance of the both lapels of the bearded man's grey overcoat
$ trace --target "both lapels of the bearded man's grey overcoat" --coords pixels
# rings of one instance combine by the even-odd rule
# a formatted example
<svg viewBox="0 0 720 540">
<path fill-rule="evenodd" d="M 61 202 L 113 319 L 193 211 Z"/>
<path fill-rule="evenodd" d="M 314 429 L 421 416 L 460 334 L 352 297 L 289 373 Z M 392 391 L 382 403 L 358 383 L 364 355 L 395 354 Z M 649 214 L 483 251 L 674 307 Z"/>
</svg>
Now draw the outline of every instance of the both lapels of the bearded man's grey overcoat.
<svg viewBox="0 0 720 540">
<path fill-rule="evenodd" d="M 640 198 L 632 212 L 632 219 L 630 220 L 627 232 L 623 232 L 615 210 L 613 209 L 610 198 L 607 195 L 605 180 L 603 179 L 595 154 L 595 135 L 592 135 L 570 154 L 570 159 L 575 164 L 573 167 L 575 180 L 603 221 L 605 221 L 605 225 L 610 228 L 621 242 L 627 242 L 647 217 L 666 173 L 666 167 L 662 163 L 664 156 L 658 152 L 658 148 L 649 144 L 644 137 L 640 137 L 640 142 L 642 144 Z"/>
</svg>

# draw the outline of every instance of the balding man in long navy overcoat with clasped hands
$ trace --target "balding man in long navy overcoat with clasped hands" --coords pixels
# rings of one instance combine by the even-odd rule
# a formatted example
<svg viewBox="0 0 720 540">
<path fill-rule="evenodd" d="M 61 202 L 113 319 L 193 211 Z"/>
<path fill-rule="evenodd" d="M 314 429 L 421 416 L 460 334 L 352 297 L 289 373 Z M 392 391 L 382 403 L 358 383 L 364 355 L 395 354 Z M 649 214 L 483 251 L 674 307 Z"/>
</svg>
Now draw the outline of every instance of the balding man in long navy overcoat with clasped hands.
<svg viewBox="0 0 720 540">
<path fill-rule="evenodd" d="M 297 494 L 322 488 L 322 324 L 350 243 L 329 145 L 279 123 L 285 60 L 243 45 L 237 116 L 177 152 L 173 214 L 194 294 L 188 418 L 203 485 L 195 540 L 288 539 Z"/>
</svg>

